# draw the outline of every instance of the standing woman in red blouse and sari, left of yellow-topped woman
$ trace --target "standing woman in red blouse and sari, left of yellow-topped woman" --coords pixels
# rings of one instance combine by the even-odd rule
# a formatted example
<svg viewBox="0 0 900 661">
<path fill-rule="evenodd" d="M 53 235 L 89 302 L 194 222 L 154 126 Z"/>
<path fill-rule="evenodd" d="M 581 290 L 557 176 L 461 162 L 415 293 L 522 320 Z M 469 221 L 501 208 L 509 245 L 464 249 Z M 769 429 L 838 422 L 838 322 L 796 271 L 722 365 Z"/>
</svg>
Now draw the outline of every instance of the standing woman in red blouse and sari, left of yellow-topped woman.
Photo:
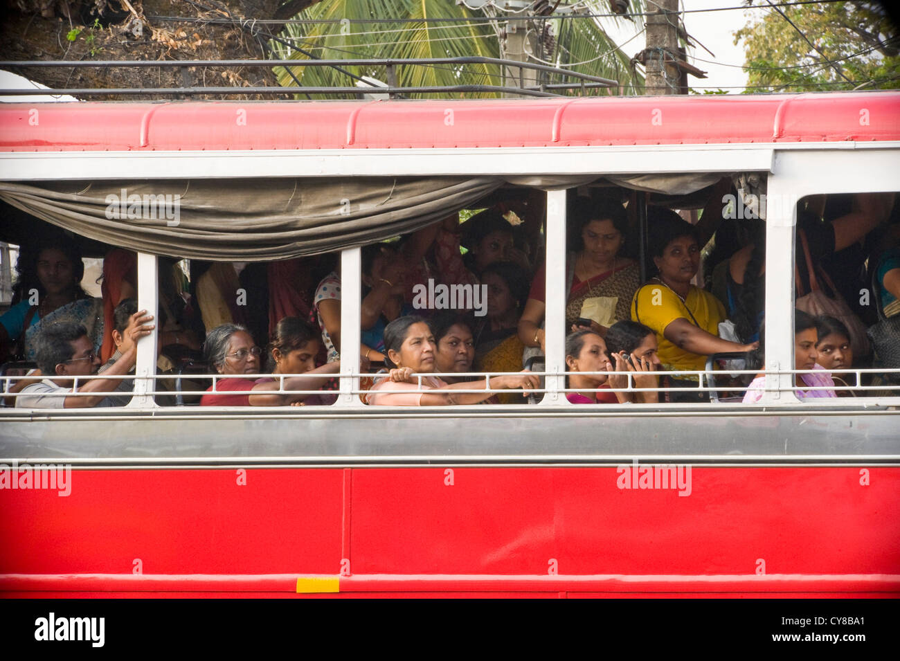
<svg viewBox="0 0 900 661">
<path fill-rule="evenodd" d="M 627 217 L 615 201 L 580 201 L 572 214 L 575 252 L 566 257 L 566 328 L 588 318 L 600 336 L 618 320 L 629 317 L 629 306 L 640 286 L 638 264 L 621 255 L 625 245 Z M 519 339 L 528 347 L 545 346 L 545 268 L 538 269 L 518 321 Z"/>
</svg>

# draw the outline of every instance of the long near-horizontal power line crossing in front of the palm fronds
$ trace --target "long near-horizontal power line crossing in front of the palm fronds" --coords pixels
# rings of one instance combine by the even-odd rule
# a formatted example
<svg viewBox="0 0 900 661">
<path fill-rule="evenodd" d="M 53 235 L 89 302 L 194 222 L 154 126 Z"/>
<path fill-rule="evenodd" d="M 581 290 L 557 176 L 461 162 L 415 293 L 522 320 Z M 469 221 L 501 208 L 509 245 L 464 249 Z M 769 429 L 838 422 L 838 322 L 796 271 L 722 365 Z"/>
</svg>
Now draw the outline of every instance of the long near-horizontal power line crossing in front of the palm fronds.
<svg viewBox="0 0 900 661">
<path fill-rule="evenodd" d="M 833 4 L 833 3 L 843 3 L 845 0 L 796 0 L 795 2 L 786 2 L 786 3 L 777 3 L 772 4 L 773 7 L 793 7 L 800 4 Z M 686 9 L 681 11 L 680 13 L 707 13 L 707 12 L 731 12 L 737 10 L 749 10 L 749 9 L 769 9 L 768 6 L 762 4 L 739 4 L 737 6 L 732 7 L 714 7 L 712 9 Z M 637 16 L 650 16 L 655 15 L 653 12 L 636 12 L 636 13 L 565 13 L 556 16 L 545 16 L 540 14 L 528 15 L 528 16 L 517 16 L 517 20 L 525 21 L 567 21 L 577 18 L 628 18 L 628 17 L 637 17 Z M 164 21 L 164 22 L 205 22 L 205 23 L 224 23 L 230 24 L 231 21 L 228 19 L 219 19 L 219 18 L 200 18 L 196 16 L 148 16 L 148 20 L 153 21 Z M 354 24 L 354 23 L 362 23 L 362 24 L 378 24 L 378 23 L 428 23 L 428 22 L 498 22 L 505 20 L 504 16 L 448 16 L 448 17 L 434 17 L 434 18 L 367 18 L 367 19 L 357 19 L 357 18 L 334 18 L 334 19 L 256 19 L 255 22 L 259 25 L 326 25 L 329 23 L 344 23 L 344 24 Z"/>
</svg>

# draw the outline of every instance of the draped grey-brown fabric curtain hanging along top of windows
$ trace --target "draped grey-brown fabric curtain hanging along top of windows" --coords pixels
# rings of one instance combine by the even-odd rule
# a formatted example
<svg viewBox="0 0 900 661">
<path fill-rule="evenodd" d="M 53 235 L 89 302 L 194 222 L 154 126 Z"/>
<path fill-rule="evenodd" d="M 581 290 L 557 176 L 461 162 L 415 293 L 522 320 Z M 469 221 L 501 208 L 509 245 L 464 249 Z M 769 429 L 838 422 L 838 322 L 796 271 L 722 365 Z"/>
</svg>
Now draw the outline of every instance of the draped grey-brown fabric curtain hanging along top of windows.
<svg viewBox="0 0 900 661">
<path fill-rule="evenodd" d="M 364 246 L 471 208 L 505 183 L 588 183 L 686 195 L 721 174 L 306 177 L 0 183 L 0 199 L 83 237 L 144 253 L 272 261 Z"/>
</svg>

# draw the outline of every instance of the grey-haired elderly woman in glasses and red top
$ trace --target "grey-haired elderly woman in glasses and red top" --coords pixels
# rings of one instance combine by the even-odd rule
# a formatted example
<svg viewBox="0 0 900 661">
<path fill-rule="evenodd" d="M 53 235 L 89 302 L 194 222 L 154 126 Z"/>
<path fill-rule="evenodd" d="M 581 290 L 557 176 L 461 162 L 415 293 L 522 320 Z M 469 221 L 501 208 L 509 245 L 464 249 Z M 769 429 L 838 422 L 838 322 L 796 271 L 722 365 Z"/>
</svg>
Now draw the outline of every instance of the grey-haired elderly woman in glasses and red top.
<svg viewBox="0 0 900 661">
<path fill-rule="evenodd" d="M 213 328 L 203 343 L 203 355 L 212 368 L 229 378 L 217 380 L 215 392 L 212 392 L 211 386 L 200 400 L 201 406 L 286 406 L 301 403 L 310 397 L 278 393 L 281 380 L 248 379 L 245 375 L 260 373 L 262 353 L 246 327 L 222 324 Z M 307 375 L 284 379 L 284 389 L 317 389 L 339 369 L 339 362 L 329 362 L 306 372 Z M 238 394 L 236 391 L 244 392 Z"/>
</svg>

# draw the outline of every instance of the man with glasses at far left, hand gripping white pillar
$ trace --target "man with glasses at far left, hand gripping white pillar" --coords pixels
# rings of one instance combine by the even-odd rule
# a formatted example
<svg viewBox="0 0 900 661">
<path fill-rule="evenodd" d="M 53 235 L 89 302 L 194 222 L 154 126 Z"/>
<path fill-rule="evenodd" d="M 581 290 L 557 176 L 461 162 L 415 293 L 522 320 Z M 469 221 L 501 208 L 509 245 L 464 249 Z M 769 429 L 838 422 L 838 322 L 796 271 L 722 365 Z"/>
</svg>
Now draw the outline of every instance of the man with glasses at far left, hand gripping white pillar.
<svg viewBox="0 0 900 661">
<path fill-rule="evenodd" d="M 137 362 L 139 338 L 149 335 L 153 330 L 154 326 L 149 325 L 150 321 L 153 321 L 153 317 L 147 314 L 147 310 L 140 310 L 130 316 L 119 346 L 121 356 L 103 372 L 104 377 L 125 375 L 131 371 Z M 25 387 L 16 398 L 16 407 L 116 406 L 115 402 L 103 395 L 85 393 L 110 392 L 120 386 L 120 379 L 82 380 L 73 391 L 75 377 L 91 376 L 96 374 L 100 367 L 100 356 L 94 352 L 85 326 L 59 323 L 41 331 L 35 342 L 35 360 L 40 372 L 48 377 Z"/>
</svg>

